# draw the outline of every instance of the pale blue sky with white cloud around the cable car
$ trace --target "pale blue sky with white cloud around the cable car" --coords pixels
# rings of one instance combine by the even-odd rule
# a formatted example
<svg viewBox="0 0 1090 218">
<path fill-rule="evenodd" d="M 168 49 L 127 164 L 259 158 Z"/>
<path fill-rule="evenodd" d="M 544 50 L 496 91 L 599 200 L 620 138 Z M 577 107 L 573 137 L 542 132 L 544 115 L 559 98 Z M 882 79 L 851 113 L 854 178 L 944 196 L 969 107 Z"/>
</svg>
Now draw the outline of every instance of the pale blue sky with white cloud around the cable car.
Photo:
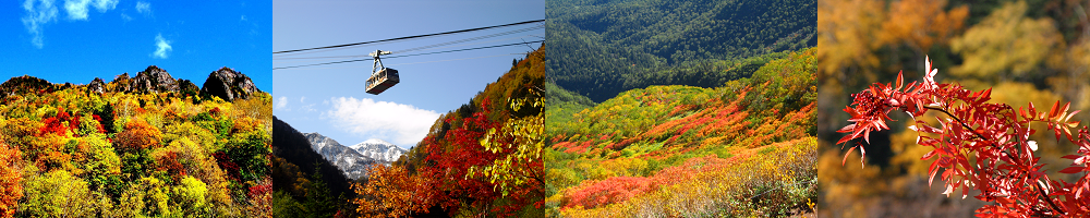
<svg viewBox="0 0 1090 218">
<path fill-rule="evenodd" d="M 403 36 L 434 34 L 545 19 L 545 1 L 404 0 L 404 1 L 272 1 L 272 49 L 313 48 Z M 359 56 L 375 50 L 400 51 L 431 45 L 509 33 L 538 24 L 447 35 L 425 39 L 272 56 L 272 66 L 350 60 L 298 59 Z M 513 33 L 402 55 L 446 51 L 542 40 L 544 28 Z M 540 44 L 533 44 L 537 48 Z M 364 93 L 372 61 L 274 70 L 274 114 L 300 132 L 318 132 L 341 144 L 370 138 L 414 146 L 440 113 L 457 109 L 524 58 L 526 46 L 383 59 L 397 69 L 401 83 L 382 95 Z M 398 56 L 398 53 L 391 55 Z"/>
</svg>

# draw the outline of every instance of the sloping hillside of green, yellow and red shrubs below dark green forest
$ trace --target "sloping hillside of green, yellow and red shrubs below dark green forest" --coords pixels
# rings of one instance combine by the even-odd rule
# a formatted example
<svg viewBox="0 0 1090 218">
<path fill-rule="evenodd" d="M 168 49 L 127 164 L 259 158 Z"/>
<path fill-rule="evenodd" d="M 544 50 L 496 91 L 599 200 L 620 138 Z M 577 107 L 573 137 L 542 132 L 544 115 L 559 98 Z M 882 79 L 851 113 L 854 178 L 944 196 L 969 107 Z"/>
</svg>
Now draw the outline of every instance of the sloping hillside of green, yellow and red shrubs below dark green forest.
<svg viewBox="0 0 1090 218">
<path fill-rule="evenodd" d="M 816 48 L 716 88 L 602 104 L 549 90 L 546 192 L 565 217 L 785 216 L 816 198 Z M 573 99 L 573 100 L 561 100 Z"/>
</svg>

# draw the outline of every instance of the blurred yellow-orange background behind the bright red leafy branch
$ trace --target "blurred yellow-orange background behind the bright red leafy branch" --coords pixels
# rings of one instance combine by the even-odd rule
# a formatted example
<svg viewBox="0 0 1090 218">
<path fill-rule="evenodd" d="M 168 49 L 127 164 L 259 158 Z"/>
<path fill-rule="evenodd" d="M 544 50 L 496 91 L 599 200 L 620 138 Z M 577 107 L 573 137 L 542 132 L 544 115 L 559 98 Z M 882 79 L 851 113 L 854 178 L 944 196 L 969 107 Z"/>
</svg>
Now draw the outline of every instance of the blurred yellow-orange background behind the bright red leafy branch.
<svg viewBox="0 0 1090 218">
<path fill-rule="evenodd" d="M 930 56 L 938 83 L 993 88 L 991 102 L 1014 108 L 1069 101 L 1071 111 L 1083 111 L 1076 119 L 1090 123 L 1088 7 L 1090 0 L 819 0 L 819 216 L 971 217 L 989 204 L 972 192 L 947 197 L 937 179 L 928 185 L 933 160 L 920 157 L 930 149 L 905 131 L 911 120 L 905 113 L 891 113 L 892 130 L 871 134 L 863 166 L 859 152 L 841 165 L 847 149 L 833 143 L 849 124 L 843 109 L 850 94 L 895 82 L 901 70 L 906 83 L 921 81 Z M 1049 177 L 1074 181 L 1056 171 L 1071 164 L 1059 157 L 1077 148 L 1043 125 L 1038 131 L 1031 138 Z"/>
</svg>

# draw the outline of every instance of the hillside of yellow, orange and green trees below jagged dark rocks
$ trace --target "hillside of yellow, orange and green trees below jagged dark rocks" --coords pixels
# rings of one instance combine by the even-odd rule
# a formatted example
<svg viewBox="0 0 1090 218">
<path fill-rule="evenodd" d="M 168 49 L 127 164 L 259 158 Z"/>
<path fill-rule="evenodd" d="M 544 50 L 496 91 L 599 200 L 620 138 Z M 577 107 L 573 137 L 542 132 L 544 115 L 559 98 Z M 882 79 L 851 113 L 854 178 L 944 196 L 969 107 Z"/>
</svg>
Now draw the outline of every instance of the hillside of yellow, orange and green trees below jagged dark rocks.
<svg viewBox="0 0 1090 218">
<path fill-rule="evenodd" d="M 249 83 L 209 77 L 228 71 Z M 268 216 L 267 93 L 225 101 L 154 66 L 0 89 L 0 217 Z"/>
</svg>

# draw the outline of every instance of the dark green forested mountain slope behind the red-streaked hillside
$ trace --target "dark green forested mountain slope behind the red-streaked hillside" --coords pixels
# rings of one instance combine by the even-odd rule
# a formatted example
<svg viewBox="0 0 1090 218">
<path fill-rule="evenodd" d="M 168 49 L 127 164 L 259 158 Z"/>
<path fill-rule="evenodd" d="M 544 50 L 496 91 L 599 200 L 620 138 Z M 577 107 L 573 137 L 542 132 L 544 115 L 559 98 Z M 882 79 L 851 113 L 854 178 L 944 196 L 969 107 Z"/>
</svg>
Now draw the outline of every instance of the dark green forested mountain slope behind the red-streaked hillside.
<svg viewBox="0 0 1090 218">
<path fill-rule="evenodd" d="M 556 84 L 595 101 L 647 85 L 716 87 L 816 46 L 814 0 L 550 0 Z"/>
</svg>

